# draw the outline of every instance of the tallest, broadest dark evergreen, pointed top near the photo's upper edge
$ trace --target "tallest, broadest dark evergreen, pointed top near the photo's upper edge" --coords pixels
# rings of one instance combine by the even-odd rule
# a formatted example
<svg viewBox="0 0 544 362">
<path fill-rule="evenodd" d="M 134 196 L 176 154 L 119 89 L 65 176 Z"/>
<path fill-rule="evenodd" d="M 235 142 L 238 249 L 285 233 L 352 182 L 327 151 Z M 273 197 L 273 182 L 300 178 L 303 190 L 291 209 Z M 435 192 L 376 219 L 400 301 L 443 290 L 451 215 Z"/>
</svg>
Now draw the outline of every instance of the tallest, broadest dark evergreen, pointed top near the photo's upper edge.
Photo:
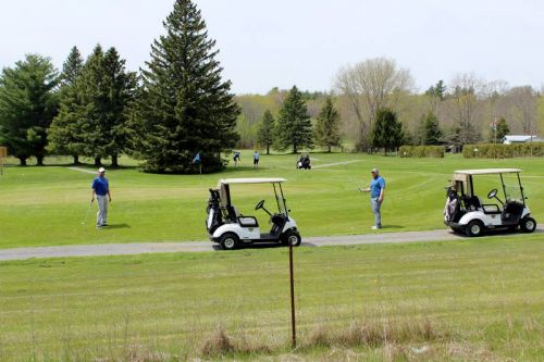
<svg viewBox="0 0 544 362">
<path fill-rule="evenodd" d="M 176 0 L 163 24 L 166 35 L 151 46 L 141 98 L 132 111 L 133 154 L 146 160 L 147 172 L 196 172 L 197 152 L 203 172 L 220 170 L 221 151 L 238 139 L 239 108 L 231 82 L 221 78 L 215 41 L 190 0 Z"/>
</svg>

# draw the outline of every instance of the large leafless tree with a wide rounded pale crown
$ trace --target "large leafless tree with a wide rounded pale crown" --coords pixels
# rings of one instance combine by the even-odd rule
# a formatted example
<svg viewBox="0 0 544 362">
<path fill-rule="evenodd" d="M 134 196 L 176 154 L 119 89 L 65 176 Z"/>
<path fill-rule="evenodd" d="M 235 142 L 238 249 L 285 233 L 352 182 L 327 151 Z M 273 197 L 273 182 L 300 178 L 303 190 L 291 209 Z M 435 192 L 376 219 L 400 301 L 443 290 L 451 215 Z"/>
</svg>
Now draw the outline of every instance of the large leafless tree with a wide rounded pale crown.
<svg viewBox="0 0 544 362">
<path fill-rule="evenodd" d="M 378 111 L 394 109 L 399 96 L 410 91 L 412 84 L 409 71 L 385 58 L 369 59 L 338 71 L 334 88 L 347 97 L 359 122 L 357 149 L 368 148 Z"/>
</svg>

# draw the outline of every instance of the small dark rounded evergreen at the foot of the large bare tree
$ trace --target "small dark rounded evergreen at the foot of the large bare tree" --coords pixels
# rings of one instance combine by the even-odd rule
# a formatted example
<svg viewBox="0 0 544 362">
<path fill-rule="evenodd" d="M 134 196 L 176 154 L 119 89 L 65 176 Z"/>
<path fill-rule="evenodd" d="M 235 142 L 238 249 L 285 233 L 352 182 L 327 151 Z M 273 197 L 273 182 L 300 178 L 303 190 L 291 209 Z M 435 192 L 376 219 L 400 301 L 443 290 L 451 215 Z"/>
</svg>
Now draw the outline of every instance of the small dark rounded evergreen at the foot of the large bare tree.
<svg viewBox="0 0 544 362">
<path fill-rule="evenodd" d="M 404 140 L 403 124 L 397 121 L 397 114 L 390 109 L 381 109 L 372 128 L 372 147 L 387 150 L 398 148 Z"/>
</svg>

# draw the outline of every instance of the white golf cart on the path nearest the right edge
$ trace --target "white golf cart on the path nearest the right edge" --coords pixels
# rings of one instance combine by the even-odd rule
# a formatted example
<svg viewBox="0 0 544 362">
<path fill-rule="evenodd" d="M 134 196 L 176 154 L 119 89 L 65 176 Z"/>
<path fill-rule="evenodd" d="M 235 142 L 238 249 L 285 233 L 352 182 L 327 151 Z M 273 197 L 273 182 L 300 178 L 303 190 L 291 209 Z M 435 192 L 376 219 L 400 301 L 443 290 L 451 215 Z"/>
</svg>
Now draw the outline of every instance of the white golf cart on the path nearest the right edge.
<svg viewBox="0 0 544 362">
<path fill-rule="evenodd" d="M 447 187 L 444 223 L 454 232 L 468 236 L 481 236 L 489 229 L 532 233 L 536 222 L 526 204 L 519 168 L 484 168 L 455 171 L 452 186 Z M 485 203 L 474 195 L 474 176 L 498 175 L 502 190 L 494 188 L 487 194 Z M 508 183 L 505 178 L 508 177 Z M 503 194 L 503 199 L 498 197 Z"/>
</svg>

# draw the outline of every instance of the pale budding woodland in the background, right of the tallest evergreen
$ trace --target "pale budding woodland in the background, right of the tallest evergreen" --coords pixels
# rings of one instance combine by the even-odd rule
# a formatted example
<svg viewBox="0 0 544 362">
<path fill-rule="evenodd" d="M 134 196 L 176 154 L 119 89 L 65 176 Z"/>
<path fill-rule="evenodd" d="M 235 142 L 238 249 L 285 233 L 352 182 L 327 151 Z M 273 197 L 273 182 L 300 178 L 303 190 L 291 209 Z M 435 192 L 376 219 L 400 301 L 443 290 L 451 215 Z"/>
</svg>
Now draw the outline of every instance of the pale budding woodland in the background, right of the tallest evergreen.
<svg viewBox="0 0 544 362">
<path fill-rule="evenodd" d="M 276 114 L 286 93 L 273 88 L 267 95 L 236 97 L 244 121 L 238 123 L 243 146 L 258 141 L 259 114 L 264 110 Z M 505 82 L 486 83 L 473 74 L 459 74 L 447 84 L 438 80 L 418 91 L 409 71 L 384 58 L 339 68 L 329 93 L 304 95 L 314 122 L 325 100 L 332 99 L 341 114 L 343 140 L 357 151 L 383 148 L 374 129 L 382 111 L 395 113 L 404 145 L 500 142 L 510 133 L 539 135 L 544 125 L 544 97 L 531 86 L 510 87 Z"/>
</svg>

